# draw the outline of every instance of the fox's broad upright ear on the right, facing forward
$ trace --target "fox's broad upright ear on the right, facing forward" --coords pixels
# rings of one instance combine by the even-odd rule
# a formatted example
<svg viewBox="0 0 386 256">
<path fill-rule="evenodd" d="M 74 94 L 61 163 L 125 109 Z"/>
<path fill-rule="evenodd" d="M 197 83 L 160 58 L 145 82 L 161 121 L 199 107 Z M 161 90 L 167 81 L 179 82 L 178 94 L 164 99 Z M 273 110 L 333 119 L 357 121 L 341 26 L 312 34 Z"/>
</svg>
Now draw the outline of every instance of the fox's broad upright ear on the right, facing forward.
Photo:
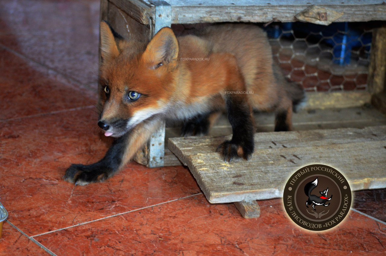
<svg viewBox="0 0 386 256">
<path fill-rule="evenodd" d="M 178 41 L 170 27 L 163 27 L 147 44 L 142 55 L 146 63 L 152 68 L 158 67 L 159 63 L 176 65 L 178 56 Z"/>
</svg>

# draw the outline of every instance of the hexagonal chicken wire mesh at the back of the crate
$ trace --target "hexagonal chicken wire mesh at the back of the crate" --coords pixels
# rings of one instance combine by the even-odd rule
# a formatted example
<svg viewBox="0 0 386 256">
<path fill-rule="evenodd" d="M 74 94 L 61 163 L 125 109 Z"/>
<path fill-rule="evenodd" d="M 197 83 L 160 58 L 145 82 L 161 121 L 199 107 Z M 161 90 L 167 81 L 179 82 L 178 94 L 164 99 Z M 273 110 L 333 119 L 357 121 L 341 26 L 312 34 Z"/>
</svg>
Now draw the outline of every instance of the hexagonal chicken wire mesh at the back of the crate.
<svg viewBox="0 0 386 256">
<path fill-rule="evenodd" d="M 370 25 L 278 23 L 268 26 L 267 34 L 284 74 L 306 91 L 366 90 Z"/>
</svg>

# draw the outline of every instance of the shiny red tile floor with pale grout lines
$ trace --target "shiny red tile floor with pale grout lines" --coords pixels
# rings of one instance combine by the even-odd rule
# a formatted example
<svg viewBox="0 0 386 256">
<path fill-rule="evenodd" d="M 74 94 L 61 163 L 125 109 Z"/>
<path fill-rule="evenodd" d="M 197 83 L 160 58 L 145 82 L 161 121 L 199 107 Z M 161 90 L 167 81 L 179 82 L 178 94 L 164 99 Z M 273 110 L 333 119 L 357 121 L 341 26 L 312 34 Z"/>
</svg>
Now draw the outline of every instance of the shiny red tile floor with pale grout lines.
<svg viewBox="0 0 386 256">
<path fill-rule="evenodd" d="M 384 189 L 357 192 L 341 225 L 311 233 L 280 199 L 261 201 L 257 219 L 211 205 L 182 166 L 63 181 L 111 142 L 93 106 L 98 12 L 98 0 L 0 2 L 0 255 L 385 255 Z"/>
</svg>

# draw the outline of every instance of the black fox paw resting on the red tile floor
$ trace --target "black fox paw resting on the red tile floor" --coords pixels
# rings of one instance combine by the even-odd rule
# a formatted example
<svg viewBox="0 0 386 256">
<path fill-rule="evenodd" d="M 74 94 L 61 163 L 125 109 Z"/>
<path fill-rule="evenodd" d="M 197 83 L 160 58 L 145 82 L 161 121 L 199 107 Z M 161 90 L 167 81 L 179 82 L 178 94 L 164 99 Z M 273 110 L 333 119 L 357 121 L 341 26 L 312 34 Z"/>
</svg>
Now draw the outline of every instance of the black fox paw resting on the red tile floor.
<svg viewBox="0 0 386 256">
<path fill-rule="evenodd" d="M 85 166 L 83 164 L 71 164 L 66 170 L 63 179 L 75 183 L 75 185 L 87 185 L 89 183 L 102 182 L 109 177 L 112 170 L 98 163 Z"/>
</svg>

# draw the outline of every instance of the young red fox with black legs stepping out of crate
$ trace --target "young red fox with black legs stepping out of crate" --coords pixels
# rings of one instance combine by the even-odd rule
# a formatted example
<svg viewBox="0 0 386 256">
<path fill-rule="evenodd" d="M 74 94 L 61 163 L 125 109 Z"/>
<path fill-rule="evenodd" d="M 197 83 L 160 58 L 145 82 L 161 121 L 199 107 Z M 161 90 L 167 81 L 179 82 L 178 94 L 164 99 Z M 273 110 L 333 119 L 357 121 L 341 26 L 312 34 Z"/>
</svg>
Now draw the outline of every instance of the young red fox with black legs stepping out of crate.
<svg viewBox="0 0 386 256">
<path fill-rule="evenodd" d="M 98 126 L 116 139 L 99 162 L 67 169 L 64 179 L 76 184 L 111 177 L 165 119 L 190 119 L 183 134 L 194 135 L 206 133 L 223 110 L 233 135 L 217 151 L 228 162 L 247 160 L 254 151 L 252 111 L 275 111 L 275 131 L 288 131 L 293 106 L 304 98 L 273 66 L 267 37 L 253 24 L 213 25 L 178 38 L 164 27 L 141 42 L 123 39 L 102 21 L 100 41 Z"/>
</svg>

